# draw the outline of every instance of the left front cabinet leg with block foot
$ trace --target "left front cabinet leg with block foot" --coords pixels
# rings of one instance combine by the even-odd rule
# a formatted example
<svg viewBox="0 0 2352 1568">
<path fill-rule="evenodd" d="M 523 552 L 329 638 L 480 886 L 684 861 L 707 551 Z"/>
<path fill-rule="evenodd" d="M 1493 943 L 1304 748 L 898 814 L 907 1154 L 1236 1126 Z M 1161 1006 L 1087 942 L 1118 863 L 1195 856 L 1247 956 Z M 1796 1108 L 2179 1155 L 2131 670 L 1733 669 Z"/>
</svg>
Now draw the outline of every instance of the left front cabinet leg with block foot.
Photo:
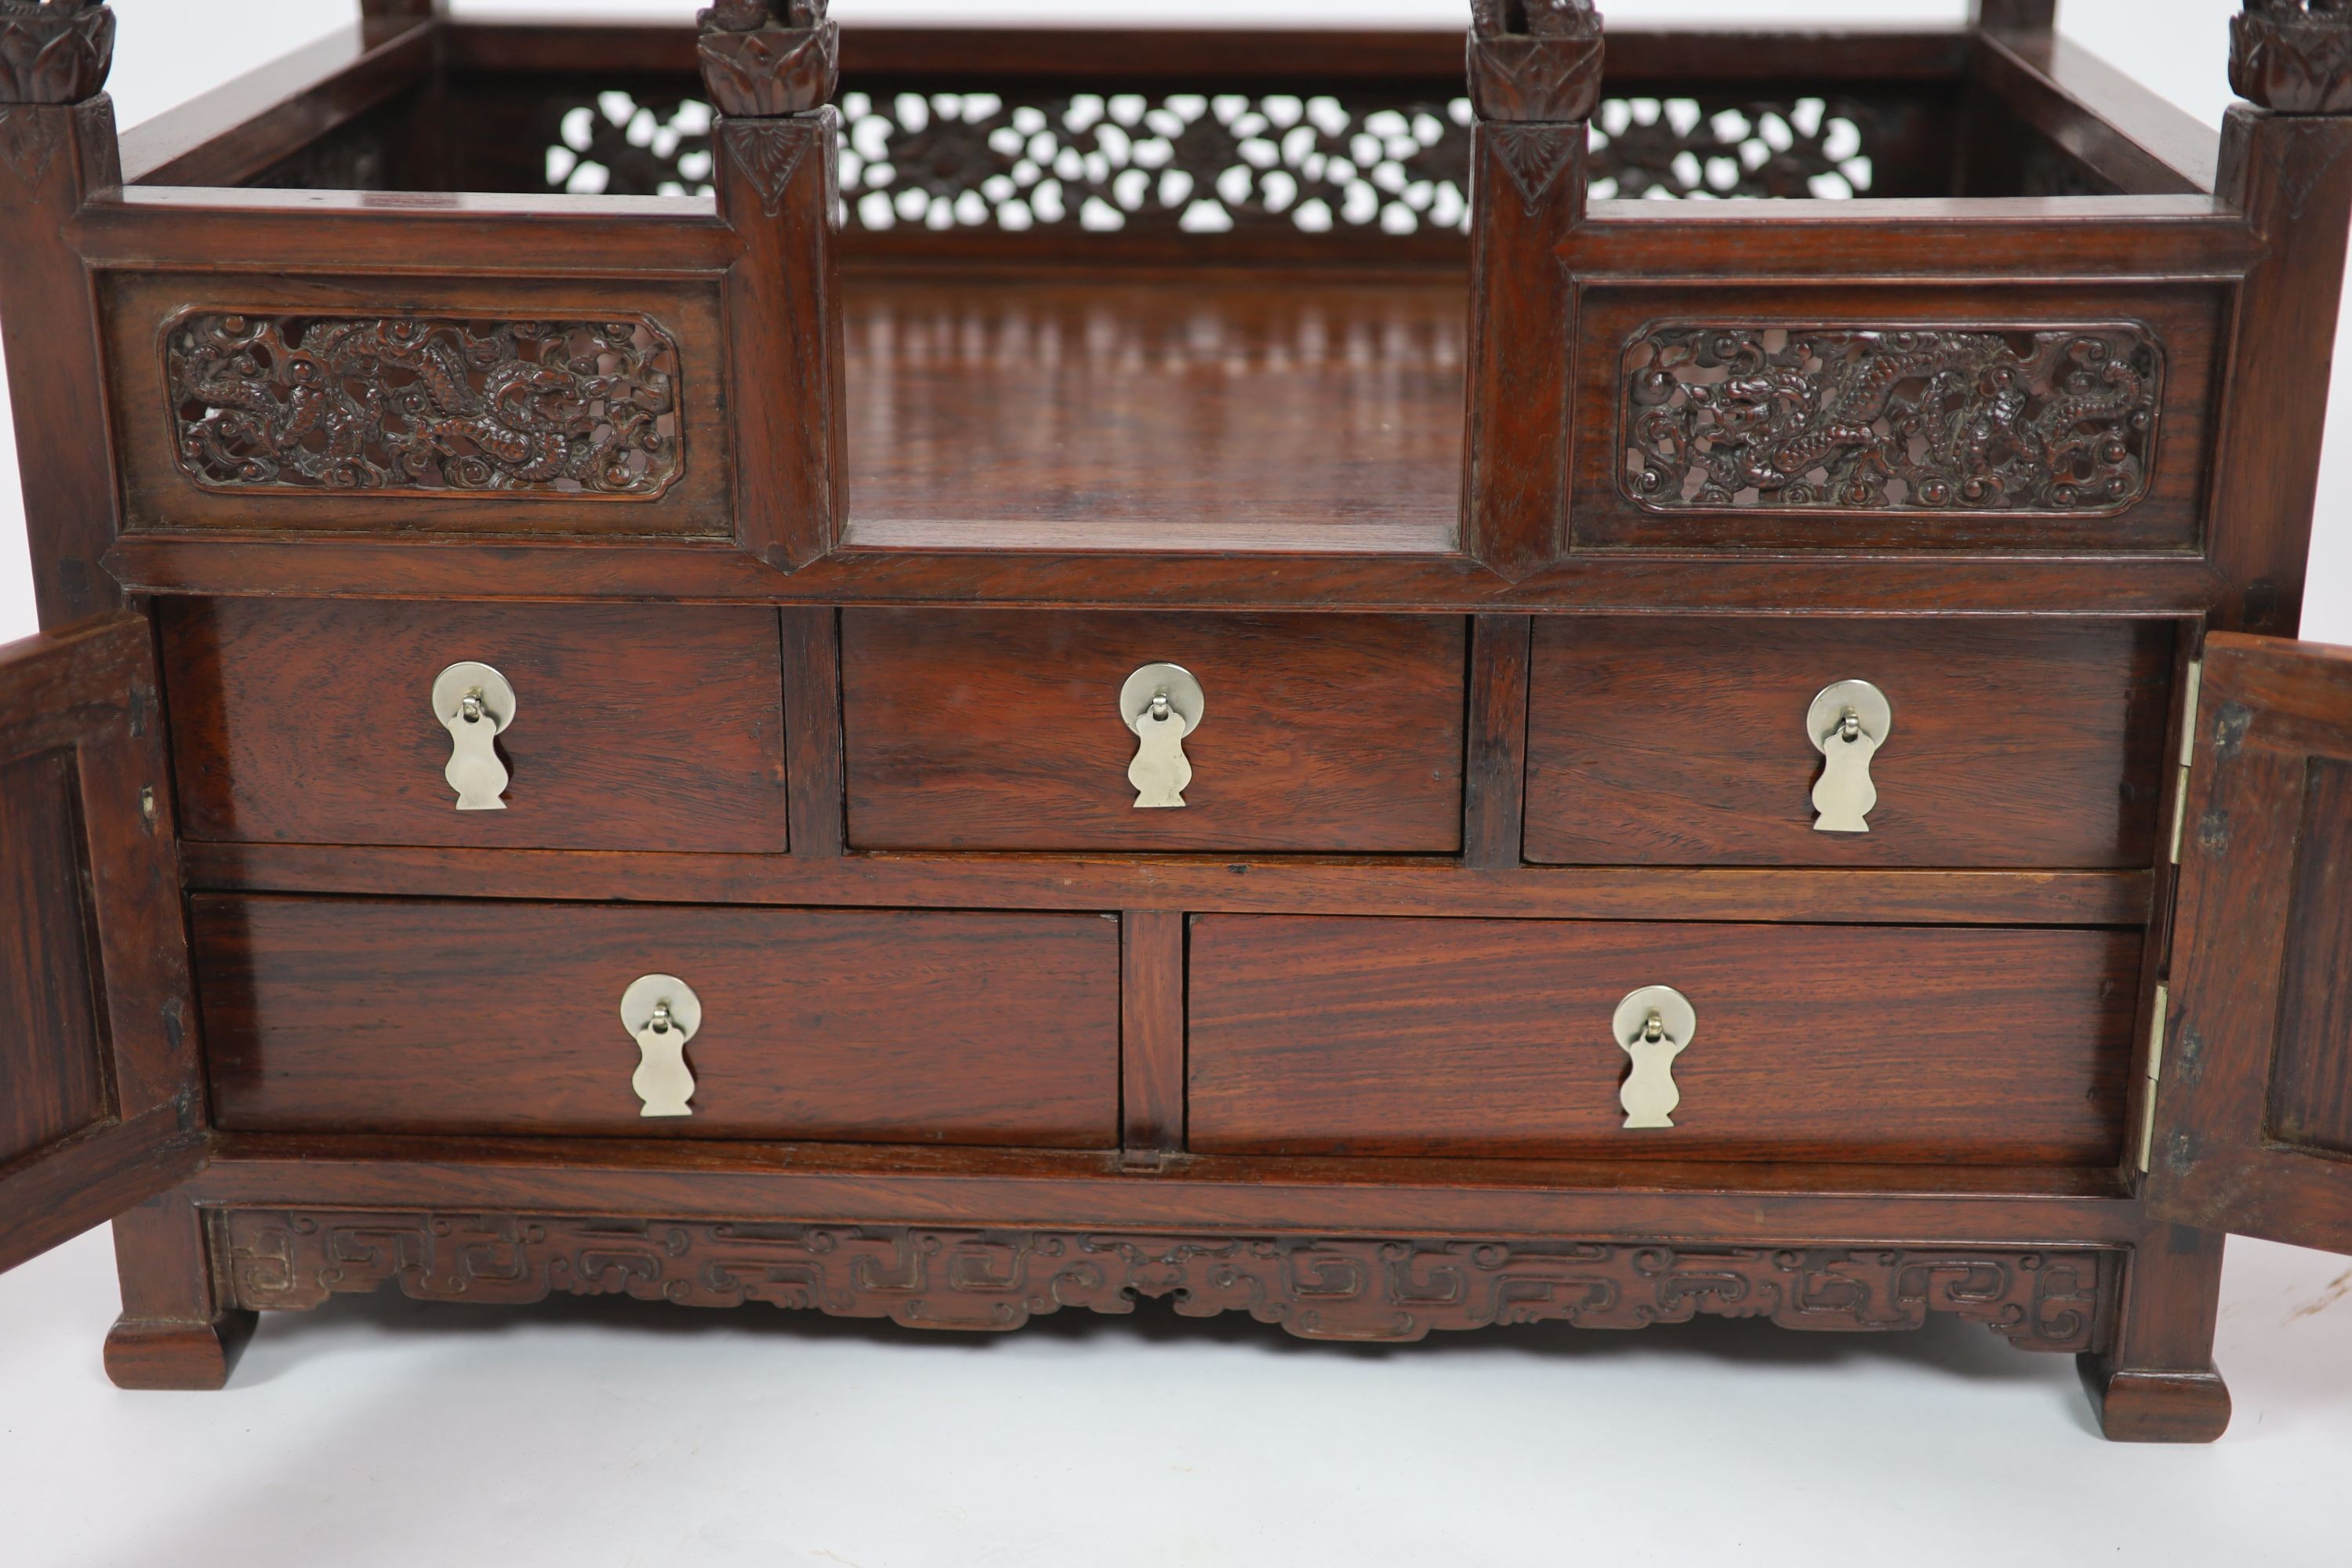
<svg viewBox="0 0 2352 1568">
<path fill-rule="evenodd" d="M 122 1316 L 106 1335 L 106 1375 L 122 1389 L 216 1389 L 254 1331 L 221 1307 L 205 1218 L 179 1192 L 115 1220 Z"/>
</svg>

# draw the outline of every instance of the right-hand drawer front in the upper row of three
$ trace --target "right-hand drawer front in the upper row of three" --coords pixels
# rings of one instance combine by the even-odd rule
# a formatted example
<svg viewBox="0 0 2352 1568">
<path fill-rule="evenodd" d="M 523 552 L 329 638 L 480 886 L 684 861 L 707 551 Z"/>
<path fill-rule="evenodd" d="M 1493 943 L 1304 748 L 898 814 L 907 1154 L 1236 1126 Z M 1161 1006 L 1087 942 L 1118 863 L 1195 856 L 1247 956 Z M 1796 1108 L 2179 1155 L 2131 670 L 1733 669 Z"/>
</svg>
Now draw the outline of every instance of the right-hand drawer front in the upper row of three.
<svg viewBox="0 0 2352 1568">
<path fill-rule="evenodd" d="M 1543 618 L 1526 858 L 2152 865 L 2171 670 L 2159 623 Z M 1816 827 L 1809 715 L 1839 682 L 1891 715 L 1867 832 Z"/>
</svg>

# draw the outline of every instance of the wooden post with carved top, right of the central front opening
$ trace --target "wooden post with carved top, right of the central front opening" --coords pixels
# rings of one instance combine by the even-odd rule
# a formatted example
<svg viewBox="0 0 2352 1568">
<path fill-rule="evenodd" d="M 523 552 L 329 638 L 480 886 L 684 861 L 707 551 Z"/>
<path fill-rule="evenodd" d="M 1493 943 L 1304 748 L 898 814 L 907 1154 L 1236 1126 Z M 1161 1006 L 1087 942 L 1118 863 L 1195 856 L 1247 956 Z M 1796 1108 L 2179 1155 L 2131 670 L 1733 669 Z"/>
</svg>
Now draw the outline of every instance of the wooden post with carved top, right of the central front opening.
<svg viewBox="0 0 2352 1568">
<path fill-rule="evenodd" d="M 1475 0 L 1470 28 L 1470 451 L 1463 548 L 1524 581 L 1569 548 L 1576 287 L 1602 19 L 1592 0 Z"/>
</svg>

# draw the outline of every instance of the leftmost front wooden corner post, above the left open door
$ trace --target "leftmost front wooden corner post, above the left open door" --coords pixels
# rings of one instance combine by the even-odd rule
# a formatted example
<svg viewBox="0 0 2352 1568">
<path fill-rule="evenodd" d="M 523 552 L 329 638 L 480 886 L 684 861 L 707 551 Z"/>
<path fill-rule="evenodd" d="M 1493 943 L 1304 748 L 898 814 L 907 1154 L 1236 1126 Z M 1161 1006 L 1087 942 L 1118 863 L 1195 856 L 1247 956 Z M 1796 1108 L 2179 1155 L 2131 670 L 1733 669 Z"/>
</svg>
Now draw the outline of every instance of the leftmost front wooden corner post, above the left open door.
<svg viewBox="0 0 2352 1568">
<path fill-rule="evenodd" d="M 66 228 L 122 183 L 101 92 L 115 16 L 92 0 L 0 12 L 0 317 L 33 541 L 33 602 L 61 628 L 122 602 L 99 564 L 115 538 L 113 437 L 89 275 Z"/>
</svg>

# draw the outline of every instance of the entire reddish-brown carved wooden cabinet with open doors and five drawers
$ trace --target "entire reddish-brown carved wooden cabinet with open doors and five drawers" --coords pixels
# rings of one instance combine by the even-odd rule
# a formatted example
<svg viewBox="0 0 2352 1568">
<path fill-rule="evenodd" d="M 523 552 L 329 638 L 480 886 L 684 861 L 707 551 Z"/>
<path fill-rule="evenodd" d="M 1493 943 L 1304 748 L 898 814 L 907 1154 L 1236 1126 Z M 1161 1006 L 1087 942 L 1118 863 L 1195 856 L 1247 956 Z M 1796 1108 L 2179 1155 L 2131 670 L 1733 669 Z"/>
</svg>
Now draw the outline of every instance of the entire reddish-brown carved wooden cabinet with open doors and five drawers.
<svg viewBox="0 0 2352 1568">
<path fill-rule="evenodd" d="M 0 0 L 0 1262 L 2072 1352 L 2352 1251 L 2352 9 Z M 1465 73 L 1468 63 L 1468 73 Z M 2220 61 L 2216 61 L 2220 68 Z"/>
</svg>

